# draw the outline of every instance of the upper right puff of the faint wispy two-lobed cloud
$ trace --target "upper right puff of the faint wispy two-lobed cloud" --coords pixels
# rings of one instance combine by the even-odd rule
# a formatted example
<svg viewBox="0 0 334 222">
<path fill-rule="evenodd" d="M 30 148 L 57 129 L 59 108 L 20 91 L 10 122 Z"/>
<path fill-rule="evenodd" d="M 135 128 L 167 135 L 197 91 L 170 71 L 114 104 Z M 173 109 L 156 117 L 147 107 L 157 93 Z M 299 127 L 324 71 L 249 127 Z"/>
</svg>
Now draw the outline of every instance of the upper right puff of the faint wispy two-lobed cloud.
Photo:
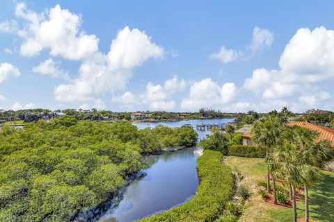
<svg viewBox="0 0 334 222">
<path fill-rule="evenodd" d="M 273 44 L 273 33 L 268 29 L 255 27 L 253 29 L 252 43 L 248 46 L 253 53 L 261 51 Z"/>
</svg>

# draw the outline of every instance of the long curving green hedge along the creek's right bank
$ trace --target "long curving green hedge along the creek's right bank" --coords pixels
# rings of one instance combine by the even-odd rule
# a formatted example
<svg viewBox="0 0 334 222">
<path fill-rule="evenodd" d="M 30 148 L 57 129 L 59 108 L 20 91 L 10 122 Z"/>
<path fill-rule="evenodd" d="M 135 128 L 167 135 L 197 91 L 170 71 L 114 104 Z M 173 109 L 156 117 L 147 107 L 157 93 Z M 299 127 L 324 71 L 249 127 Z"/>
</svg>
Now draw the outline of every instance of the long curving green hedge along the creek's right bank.
<svg viewBox="0 0 334 222">
<path fill-rule="evenodd" d="M 222 158 L 218 151 L 205 150 L 197 160 L 197 194 L 187 203 L 139 221 L 214 221 L 233 196 L 232 170 Z"/>
</svg>

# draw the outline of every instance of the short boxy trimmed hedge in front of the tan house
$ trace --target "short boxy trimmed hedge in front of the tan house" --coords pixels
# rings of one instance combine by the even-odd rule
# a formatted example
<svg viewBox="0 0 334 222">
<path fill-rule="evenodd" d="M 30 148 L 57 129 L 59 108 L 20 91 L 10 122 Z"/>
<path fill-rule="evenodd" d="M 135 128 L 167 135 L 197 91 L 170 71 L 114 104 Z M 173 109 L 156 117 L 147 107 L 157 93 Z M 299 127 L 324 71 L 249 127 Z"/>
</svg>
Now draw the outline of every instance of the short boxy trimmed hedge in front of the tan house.
<svg viewBox="0 0 334 222">
<path fill-rule="evenodd" d="M 266 148 L 261 146 L 232 145 L 228 146 L 228 155 L 264 158 L 266 157 Z"/>
</svg>

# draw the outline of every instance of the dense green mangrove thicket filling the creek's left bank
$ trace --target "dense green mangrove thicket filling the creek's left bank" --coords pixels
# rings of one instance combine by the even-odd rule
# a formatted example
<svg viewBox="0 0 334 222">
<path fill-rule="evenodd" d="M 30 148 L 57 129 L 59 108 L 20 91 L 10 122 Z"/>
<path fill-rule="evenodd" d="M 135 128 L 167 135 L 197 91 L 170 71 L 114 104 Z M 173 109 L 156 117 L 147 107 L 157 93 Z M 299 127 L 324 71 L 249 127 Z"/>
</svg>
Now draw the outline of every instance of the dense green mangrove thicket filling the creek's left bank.
<svg viewBox="0 0 334 222">
<path fill-rule="evenodd" d="M 73 110 L 67 113 L 23 129 L 1 128 L 0 221 L 69 221 L 143 169 L 141 153 L 196 144 L 191 127 L 138 130 L 125 121 L 78 121 Z"/>
</svg>

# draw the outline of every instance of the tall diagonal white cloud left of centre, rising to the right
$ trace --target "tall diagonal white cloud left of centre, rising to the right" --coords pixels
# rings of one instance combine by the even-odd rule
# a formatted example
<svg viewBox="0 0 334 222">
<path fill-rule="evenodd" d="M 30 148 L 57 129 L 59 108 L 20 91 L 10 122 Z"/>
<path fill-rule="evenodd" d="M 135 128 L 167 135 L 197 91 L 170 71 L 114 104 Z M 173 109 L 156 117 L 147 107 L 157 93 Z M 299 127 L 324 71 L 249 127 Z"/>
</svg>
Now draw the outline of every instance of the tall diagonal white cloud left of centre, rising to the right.
<svg viewBox="0 0 334 222">
<path fill-rule="evenodd" d="M 112 41 L 108 54 L 95 53 L 87 58 L 81 64 L 79 78 L 56 87 L 56 100 L 86 101 L 104 92 L 124 89 L 134 67 L 163 56 L 164 49 L 150 39 L 145 32 L 125 26 Z"/>
</svg>

